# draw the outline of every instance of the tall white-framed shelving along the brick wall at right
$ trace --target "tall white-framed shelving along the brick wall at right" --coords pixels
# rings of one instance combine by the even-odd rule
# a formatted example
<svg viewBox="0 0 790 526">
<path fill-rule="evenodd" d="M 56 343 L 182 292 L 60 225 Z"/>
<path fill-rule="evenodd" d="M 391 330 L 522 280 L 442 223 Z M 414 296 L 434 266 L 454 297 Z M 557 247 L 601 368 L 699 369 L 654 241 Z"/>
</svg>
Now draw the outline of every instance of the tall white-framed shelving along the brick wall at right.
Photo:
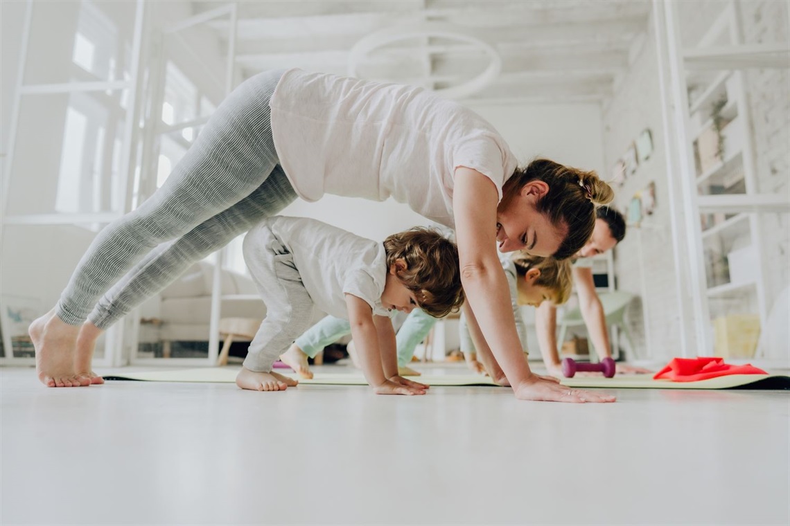
<svg viewBox="0 0 790 526">
<path fill-rule="evenodd" d="M 761 222 L 765 212 L 790 211 L 786 197 L 758 188 L 743 72 L 790 67 L 790 47 L 743 44 L 735 2 L 721 5 L 698 45 L 683 49 L 677 4 L 654 2 L 668 166 L 682 203 L 673 232 L 685 238 L 685 246 L 675 243 L 687 288 L 679 308 L 683 356 L 723 353 L 727 338 L 714 326 L 766 326 Z"/>
</svg>

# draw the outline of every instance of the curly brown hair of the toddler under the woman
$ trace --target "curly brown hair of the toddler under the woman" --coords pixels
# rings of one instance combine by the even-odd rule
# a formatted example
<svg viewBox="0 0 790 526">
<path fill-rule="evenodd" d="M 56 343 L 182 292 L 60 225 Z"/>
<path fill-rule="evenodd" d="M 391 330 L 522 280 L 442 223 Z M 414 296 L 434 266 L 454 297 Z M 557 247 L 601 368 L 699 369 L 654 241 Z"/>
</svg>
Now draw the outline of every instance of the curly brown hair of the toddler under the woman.
<svg viewBox="0 0 790 526">
<path fill-rule="evenodd" d="M 458 248 L 435 229 L 415 227 L 384 240 L 387 268 L 403 259 L 406 268 L 397 278 L 417 300 L 419 308 L 434 318 L 457 311 L 464 303 Z"/>
</svg>

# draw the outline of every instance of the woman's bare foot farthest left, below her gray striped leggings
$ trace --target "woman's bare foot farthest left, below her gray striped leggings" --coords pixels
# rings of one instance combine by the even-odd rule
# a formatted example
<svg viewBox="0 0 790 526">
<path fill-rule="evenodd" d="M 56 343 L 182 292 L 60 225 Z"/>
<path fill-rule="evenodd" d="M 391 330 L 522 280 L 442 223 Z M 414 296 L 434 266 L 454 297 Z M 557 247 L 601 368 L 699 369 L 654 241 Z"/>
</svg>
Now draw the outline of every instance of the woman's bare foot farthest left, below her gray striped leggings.
<svg viewBox="0 0 790 526">
<path fill-rule="evenodd" d="M 74 371 L 77 333 L 80 327 L 64 323 L 55 309 L 36 319 L 28 334 L 36 349 L 36 372 L 47 387 L 89 386 L 90 380 Z"/>
</svg>

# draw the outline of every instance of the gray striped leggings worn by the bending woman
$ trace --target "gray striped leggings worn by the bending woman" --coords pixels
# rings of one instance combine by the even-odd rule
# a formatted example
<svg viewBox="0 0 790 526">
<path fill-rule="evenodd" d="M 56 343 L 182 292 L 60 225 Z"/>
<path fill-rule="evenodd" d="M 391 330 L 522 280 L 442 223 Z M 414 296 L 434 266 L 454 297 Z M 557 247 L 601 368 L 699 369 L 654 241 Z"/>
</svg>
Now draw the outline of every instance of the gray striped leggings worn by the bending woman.
<svg viewBox="0 0 790 526">
<path fill-rule="evenodd" d="M 282 73 L 239 85 L 164 185 L 102 229 L 60 297 L 58 318 L 70 325 L 90 319 L 107 329 L 192 263 L 296 199 L 278 164 L 269 117 Z"/>
</svg>

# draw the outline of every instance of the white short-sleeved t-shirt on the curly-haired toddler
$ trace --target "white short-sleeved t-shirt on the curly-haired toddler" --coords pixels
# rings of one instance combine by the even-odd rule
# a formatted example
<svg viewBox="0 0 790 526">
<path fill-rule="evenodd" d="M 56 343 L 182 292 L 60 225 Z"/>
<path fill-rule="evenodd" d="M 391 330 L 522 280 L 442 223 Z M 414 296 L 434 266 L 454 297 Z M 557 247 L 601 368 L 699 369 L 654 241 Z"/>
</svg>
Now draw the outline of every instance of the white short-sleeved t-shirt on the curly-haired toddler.
<svg viewBox="0 0 790 526">
<path fill-rule="evenodd" d="M 274 216 L 264 220 L 288 248 L 304 288 L 327 314 L 348 319 L 345 294 L 367 302 L 376 315 L 382 306 L 387 262 L 384 244 L 310 218 Z"/>
</svg>

